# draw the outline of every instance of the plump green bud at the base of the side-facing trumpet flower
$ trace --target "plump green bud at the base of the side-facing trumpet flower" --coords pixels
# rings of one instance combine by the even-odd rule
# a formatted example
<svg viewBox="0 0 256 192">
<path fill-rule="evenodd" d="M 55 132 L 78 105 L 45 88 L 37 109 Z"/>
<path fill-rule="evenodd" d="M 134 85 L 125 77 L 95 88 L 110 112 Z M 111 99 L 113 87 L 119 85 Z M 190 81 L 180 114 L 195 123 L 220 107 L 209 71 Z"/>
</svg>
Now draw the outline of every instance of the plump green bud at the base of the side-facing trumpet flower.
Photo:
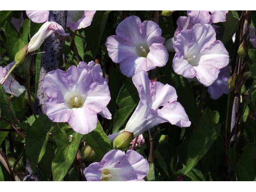
<svg viewBox="0 0 256 192">
<path fill-rule="evenodd" d="M 121 132 L 113 142 L 114 149 L 125 149 L 130 146 L 130 143 L 134 139 L 133 133 L 124 131 Z"/>
</svg>

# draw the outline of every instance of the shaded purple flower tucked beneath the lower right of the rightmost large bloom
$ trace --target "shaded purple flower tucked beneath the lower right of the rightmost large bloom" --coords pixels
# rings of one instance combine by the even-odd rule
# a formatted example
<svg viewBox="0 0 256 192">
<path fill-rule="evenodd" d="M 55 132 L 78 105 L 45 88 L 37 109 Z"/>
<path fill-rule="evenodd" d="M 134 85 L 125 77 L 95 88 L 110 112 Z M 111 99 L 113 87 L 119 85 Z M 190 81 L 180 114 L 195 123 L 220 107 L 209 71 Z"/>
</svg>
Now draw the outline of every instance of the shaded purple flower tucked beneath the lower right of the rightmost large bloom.
<svg viewBox="0 0 256 192">
<path fill-rule="evenodd" d="M 223 94 L 228 94 L 228 79 L 230 78 L 229 66 L 222 68 L 218 78 L 208 86 L 208 92 L 212 99 L 218 99 Z"/>
</svg>

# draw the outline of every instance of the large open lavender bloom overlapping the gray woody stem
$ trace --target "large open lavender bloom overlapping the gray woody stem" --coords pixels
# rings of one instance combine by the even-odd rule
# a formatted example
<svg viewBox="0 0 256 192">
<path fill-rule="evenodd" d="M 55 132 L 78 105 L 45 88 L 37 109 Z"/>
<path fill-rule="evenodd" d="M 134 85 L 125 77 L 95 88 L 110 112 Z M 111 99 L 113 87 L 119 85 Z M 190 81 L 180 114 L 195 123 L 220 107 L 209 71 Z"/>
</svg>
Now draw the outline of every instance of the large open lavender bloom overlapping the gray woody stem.
<svg viewBox="0 0 256 192">
<path fill-rule="evenodd" d="M 88 67 L 93 63 L 91 62 Z M 85 63 L 71 66 L 66 72 L 46 74 L 43 89 L 47 95 L 46 115 L 53 122 L 68 122 L 72 129 L 87 134 L 97 125 L 97 114 L 106 110 L 110 92 L 101 76 L 99 64 L 88 70 Z"/>
</svg>

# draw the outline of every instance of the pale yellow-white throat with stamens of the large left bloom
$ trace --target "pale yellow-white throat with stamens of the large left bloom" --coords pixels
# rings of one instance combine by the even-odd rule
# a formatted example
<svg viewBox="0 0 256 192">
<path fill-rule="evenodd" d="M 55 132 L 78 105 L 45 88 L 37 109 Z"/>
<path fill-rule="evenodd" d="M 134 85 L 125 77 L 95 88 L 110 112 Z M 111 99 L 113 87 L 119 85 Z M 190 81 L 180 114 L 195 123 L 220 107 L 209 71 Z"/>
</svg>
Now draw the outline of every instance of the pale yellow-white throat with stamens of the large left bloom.
<svg viewBox="0 0 256 192">
<path fill-rule="evenodd" d="M 80 108 L 84 105 L 84 102 L 86 100 L 85 95 L 81 95 L 78 92 L 68 92 L 64 96 L 64 100 L 66 102 L 66 105 L 68 108 Z"/>
</svg>

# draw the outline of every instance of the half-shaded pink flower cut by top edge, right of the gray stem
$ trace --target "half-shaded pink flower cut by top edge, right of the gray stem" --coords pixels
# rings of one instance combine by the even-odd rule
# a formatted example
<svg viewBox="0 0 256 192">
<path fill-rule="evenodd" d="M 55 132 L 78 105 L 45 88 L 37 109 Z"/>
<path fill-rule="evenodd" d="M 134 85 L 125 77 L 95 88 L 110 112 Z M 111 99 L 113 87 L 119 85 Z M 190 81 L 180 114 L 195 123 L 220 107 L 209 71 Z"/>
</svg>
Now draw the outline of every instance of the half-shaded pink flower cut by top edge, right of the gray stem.
<svg viewBox="0 0 256 192">
<path fill-rule="evenodd" d="M 96 11 L 68 11 L 67 27 L 71 30 L 86 28 L 91 25 Z"/>
</svg>

